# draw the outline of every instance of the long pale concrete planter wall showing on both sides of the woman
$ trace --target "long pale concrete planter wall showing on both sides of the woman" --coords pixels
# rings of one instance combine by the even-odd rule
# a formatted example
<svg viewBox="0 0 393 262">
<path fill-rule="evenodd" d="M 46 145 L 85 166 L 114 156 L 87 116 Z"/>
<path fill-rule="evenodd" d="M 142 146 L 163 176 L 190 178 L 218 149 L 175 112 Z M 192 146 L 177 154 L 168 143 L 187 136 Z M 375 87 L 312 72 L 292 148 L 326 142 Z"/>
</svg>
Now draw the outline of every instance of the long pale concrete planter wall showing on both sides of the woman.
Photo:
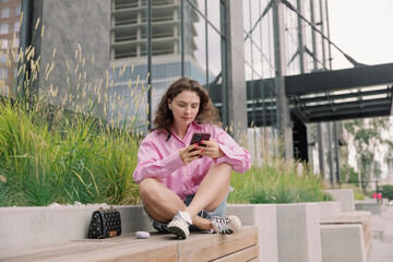
<svg viewBox="0 0 393 262">
<path fill-rule="evenodd" d="M 100 205 L 2 207 L 0 251 L 79 240 L 87 237 L 92 213 Z M 122 231 L 153 230 L 141 205 L 116 206 Z M 228 204 L 245 226 L 258 226 L 260 261 L 322 261 L 322 218 L 341 213 L 341 202 L 297 204 Z M 329 234 L 326 228 L 324 234 Z M 327 236 L 327 235 L 326 235 Z M 326 252 L 325 252 L 326 253 Z"/>
</svg>

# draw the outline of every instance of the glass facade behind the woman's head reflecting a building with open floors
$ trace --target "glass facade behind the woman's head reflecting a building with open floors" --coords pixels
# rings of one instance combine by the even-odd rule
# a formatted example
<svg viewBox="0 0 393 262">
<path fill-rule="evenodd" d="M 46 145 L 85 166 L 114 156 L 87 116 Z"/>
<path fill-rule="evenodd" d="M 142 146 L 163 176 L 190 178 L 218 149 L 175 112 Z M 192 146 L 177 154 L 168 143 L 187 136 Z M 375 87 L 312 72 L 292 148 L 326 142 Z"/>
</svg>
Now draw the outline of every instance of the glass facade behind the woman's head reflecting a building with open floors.
<svg viewBox="0 0 393 262">
<path fill-rule="evenodd" d="M 181 76 L 198 80 L 213 93 L 221 92 L 215 83 L 217 78 L 221 83 L 225 80 L 224 5 L 221 0 L 112 0 L 110 58 L 115 70 L 109 96 L 129 102 L 121 111 L 154 112 L 164 91 Z M 138 78 L 142 100 L 136 111 L 129 96 L 129 80 Z M 215 104 L 221 107 L 222 100 Z M 110 108 L 109 116 L 118 116 L 119 111 Z M 139 120 L 141 124 L 148 121 Z"/>
</svg>

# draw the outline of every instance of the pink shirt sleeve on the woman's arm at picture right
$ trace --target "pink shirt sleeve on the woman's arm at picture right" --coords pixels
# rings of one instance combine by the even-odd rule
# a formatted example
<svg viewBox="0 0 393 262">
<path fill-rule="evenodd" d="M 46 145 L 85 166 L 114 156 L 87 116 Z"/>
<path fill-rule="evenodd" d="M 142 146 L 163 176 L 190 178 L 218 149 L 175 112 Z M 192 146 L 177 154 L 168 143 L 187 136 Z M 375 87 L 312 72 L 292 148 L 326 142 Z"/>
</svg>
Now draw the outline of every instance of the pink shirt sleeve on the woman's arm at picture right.
<svg viewBox="0 0 393 262">
<path fill-rule="evenodd" d="M 224 130 L 219 130 L 216 135 L 219 148 L 224 152 L 224 156 L 214 159 L 215 164 L 229 164 L 235 171 L 246 172 L 251 167 L 250 153 L 238 145 L 235 140 Z"/>
</svg>

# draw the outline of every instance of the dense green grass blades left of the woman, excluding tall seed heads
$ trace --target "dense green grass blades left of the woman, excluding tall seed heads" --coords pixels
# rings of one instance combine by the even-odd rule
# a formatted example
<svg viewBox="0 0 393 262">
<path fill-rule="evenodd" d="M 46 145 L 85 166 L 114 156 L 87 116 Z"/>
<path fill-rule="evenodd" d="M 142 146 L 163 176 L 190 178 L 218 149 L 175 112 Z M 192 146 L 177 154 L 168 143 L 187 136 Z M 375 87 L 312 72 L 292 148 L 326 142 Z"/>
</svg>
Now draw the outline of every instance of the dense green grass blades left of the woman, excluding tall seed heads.
<svg viewBox="0 0 393 262">
<path fill-rule="evenodd" d="M 90 116 L 0 104 L 0 205 L 139 202 L 139 139 Z M 53 112 L 53 111 L 52 111 Z"/>
</svg>

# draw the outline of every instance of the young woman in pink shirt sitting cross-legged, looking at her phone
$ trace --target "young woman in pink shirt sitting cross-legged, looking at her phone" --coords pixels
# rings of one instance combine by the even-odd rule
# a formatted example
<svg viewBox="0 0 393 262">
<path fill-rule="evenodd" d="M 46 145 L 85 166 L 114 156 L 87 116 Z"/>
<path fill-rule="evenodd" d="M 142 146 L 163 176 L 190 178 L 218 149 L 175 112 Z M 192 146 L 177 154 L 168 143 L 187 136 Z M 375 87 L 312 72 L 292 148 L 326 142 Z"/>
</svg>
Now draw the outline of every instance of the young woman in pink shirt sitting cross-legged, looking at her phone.
<svg viewBox="0 0 393 262">
<path fill-rule="evenodd" d="M 241 229 L 238 217 L 223 216 L 231 171 L 247 171 L 251 158 L 218 124 L 217 109 L 195 80 L 179 79 L 164 94 L 133 174 L 155 229 L 183 239 L 190 229 Z M 193 133 L 211 139 L 190 144 Z"/>
</svg>

